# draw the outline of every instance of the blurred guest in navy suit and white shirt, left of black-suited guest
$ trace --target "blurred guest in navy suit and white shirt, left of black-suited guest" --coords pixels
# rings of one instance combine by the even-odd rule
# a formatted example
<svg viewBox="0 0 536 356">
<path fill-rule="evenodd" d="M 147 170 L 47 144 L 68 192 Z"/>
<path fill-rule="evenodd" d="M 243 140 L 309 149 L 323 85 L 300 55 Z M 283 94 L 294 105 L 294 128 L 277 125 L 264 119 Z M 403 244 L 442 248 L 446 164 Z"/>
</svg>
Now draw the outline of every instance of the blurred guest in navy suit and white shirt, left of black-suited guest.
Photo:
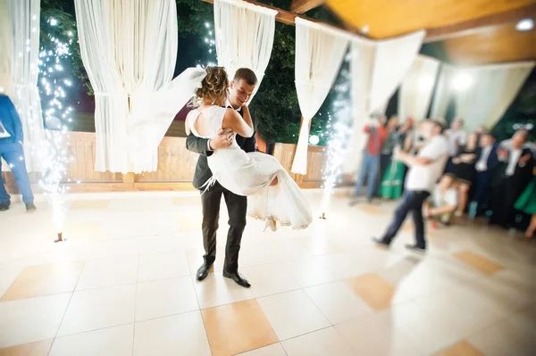
<svg viewBox="0 0 536 356">
<path fill-rule="evenodd" d="M 480 139 L 480 147 L 474 166 L 476 170 L 474 193 L 469 207 L 469 216 L 472 219 L 478 215 L 479 211 L 485 211 L 488 206 L 491 173 L 498 164 L 497 148 L 495 137 L 489 132 L 484 133 Z"/>
</svg>

